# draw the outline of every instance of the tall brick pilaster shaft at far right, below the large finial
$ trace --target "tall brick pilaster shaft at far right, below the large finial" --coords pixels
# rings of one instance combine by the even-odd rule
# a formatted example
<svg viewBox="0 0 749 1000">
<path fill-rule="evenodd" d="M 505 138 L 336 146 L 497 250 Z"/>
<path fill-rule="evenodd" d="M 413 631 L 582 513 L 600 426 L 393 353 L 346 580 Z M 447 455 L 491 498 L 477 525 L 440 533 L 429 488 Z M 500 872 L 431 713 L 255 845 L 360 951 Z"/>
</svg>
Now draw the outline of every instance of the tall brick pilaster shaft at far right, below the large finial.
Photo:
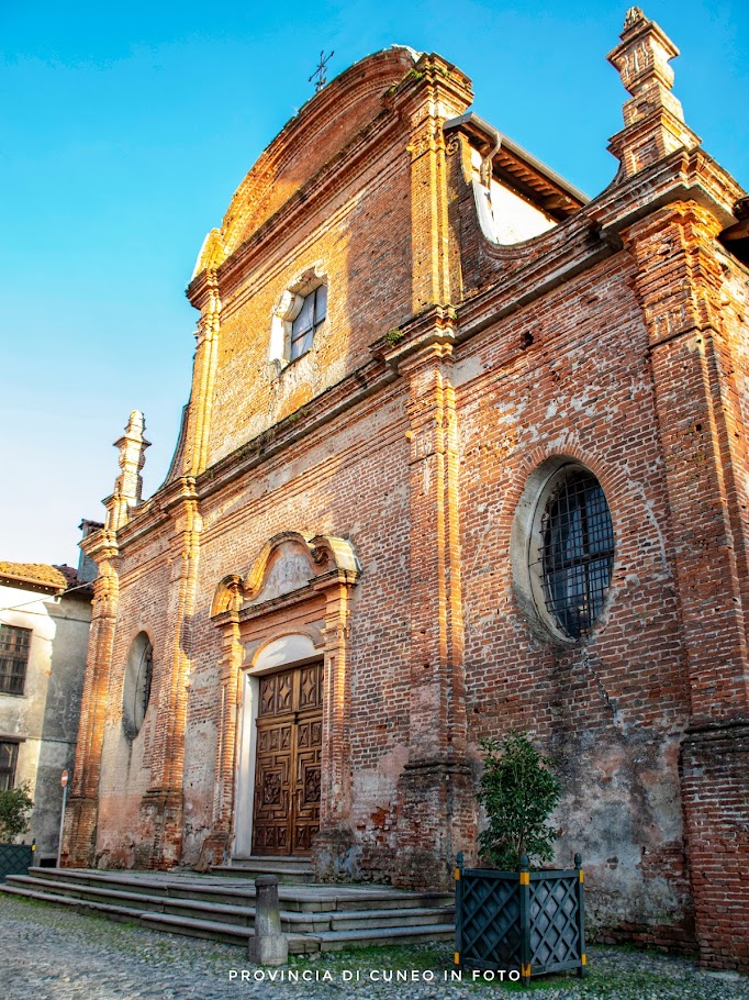
<svg viewBox="0 0 749 1000">
<path fill-rule="evenodd" d="M 719 329 L 719 224 L 694 203 L 623 233 L 637 265 L 674 526 L 692 720 L 747 713 L 747 537 Z"/>
</svg>

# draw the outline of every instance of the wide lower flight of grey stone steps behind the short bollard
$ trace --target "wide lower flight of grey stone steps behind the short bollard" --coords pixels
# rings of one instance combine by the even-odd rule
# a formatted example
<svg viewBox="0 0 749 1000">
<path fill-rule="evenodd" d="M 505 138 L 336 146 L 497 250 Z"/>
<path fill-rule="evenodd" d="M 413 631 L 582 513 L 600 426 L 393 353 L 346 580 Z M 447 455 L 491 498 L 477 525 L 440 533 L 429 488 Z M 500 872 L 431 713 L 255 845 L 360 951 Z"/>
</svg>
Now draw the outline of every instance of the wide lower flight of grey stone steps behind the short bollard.
<svg viewBox="0 0 749 1000">
<path fill-rule="evenodd" d="M 242 946 L 255 921 L 255 887 L 246 878 L 228 881 L 225 875 L 30 868 L 29 875 L 9 876 L 0 892 Z M 280 885 L 279 902 L 292 954 L 426 943 L 455 933 L 454 903 L 445 893 Z"/>
</svg>

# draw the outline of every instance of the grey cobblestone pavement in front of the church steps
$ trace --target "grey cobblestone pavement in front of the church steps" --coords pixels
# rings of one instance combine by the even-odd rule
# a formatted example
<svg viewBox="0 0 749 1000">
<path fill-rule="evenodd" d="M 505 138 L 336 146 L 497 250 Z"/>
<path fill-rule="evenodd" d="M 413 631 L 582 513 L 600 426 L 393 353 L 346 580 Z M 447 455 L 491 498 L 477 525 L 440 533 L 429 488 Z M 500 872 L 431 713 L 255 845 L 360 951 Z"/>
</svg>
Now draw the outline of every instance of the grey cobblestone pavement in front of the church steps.
<svg viewBox="0 0 749 1000">
<path fill-rule="evenodd" d="M 7 897 L 0 927 L 2 1000 L 480 1000 L 519 990 L 473 984 L 468 971 L 446 982 L 444 945 L 327 953 L 271 970 L 255 969 L 241 948 Z M 532 991 L 539 1000 L 749 1000 L 749 977 L 681 958 L 593 947 L 590 963 L 582 981 L 546 977 Z"/>
</svg>

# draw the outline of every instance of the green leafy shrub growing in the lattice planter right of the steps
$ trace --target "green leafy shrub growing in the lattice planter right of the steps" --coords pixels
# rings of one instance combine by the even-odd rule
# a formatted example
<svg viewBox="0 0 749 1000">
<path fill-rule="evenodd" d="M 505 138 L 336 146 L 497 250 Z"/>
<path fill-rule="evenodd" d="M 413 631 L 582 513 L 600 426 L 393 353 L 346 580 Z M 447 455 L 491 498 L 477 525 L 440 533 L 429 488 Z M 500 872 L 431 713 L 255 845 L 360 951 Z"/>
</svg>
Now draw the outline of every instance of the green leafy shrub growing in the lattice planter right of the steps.
<svg viewBox="0 0 749 1000">
<path fill-rule="evenodd" d="M 502 743 L 482 740 L 483 775 L 478 799 L 488 826 L 479 834 L 481 857 L 500 870 L 514 871 L 521 855 L 533 864 L 554 857 L 556 831 L 547 820 L 561 796 L 561 784 L 525 733 L 513 730 Z"/>
</svg>

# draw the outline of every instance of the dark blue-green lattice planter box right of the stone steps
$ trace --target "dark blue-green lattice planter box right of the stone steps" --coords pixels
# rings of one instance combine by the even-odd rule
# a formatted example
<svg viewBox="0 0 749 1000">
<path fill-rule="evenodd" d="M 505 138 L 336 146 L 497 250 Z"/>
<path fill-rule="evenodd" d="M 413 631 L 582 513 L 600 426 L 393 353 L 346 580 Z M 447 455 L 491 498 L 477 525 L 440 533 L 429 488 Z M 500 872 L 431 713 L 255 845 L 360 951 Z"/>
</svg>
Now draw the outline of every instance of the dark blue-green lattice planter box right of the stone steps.
<svg viewBox="0 0 749 1000">
<path fill-rule="evenodd" d="M 457 965 L 516 970 L 532 976 L 577 969 L 585 975 L 585 908 L 582 859 L 574 868 L 529 871 L 463 868 L 456 880 Z"/>
</svg>

